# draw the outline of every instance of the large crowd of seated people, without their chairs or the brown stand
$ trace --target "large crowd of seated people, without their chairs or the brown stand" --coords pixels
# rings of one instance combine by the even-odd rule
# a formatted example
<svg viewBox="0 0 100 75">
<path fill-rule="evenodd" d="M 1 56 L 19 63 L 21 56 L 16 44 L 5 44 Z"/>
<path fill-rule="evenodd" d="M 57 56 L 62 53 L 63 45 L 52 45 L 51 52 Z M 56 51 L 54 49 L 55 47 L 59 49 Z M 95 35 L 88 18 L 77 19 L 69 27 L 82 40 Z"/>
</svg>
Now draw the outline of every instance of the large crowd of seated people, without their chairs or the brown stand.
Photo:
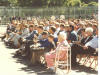
<svg viewBox="0 0 100 75">
<path fill-rule="evenodd" d="M 40 43 L 45 48 L 47 68 L 54 67 L 57 50 L 71 48 L 71 65 L 77 65 L 77 54 L 94 53 L 98 48 L 98 21 L 96 19 L 12 18 L 2 40 L 7 46 L 18 48 L 16 52 L 30 57 L 30 45 Z M 60 48 L 62 47 L 62 49 Z M 60 54 L 60 59 L 65 53 Z"/>
</svg>

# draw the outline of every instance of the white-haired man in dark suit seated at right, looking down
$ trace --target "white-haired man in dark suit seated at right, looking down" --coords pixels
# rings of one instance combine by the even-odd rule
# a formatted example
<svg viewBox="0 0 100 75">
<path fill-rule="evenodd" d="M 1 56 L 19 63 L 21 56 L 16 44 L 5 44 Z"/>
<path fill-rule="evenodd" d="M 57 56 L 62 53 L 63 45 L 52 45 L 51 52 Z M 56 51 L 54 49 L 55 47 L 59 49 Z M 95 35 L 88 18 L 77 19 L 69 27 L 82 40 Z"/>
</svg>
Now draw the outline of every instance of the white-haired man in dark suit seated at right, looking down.
<svg viewBox="0 0 100 75">
<path fill-rule="evenodd" d="M 85 30 L 86 37 L 81 40 L 81 42 L 76 43 L 74 42 L 71 46 L 71 63 L 72 66 L 76 66 L 76 55 L 77 54 L 86 54 L 86 53 L 92 53 L 94 52 L 94 49 L 91 49 L 90 47 L 86 50 L 85 44 L 88 43 L 90 40 L 93 39 L 93 29 L 91 27 L 86 28 Z"/>
</svg>

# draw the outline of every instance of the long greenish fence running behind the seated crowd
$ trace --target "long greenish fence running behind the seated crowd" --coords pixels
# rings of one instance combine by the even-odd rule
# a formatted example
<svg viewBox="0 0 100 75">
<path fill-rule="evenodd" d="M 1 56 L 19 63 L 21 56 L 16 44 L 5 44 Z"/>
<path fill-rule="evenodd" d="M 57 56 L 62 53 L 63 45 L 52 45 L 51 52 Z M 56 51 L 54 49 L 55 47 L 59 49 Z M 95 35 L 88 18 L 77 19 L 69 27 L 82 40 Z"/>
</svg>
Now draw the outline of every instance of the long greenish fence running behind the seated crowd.
<svg viewBox="0 0 100 75">
<path fill-rule="evenodd" d="M 66 19 L 78 18 L 90 18 L 92 13 L 98 13 L 98 7 L 52 7 L 52 8 L 29 8 L 29 7 L 0 7 L 0 19 L 1 24 L 9 22 L 11 16 L 38 16 L 38 17 L 50 17 L 55 15 L 65 15 Z"/>
</svg>

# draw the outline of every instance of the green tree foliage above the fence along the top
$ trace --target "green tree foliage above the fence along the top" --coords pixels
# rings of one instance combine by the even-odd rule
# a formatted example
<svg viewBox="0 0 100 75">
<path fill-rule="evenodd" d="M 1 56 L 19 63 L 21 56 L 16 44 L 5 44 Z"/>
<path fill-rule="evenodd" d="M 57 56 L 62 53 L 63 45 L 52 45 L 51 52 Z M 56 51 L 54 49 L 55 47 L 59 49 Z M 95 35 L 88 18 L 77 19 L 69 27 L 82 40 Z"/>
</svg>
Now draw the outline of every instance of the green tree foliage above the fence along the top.
<svg viewBox="0 0 100 75">
<path fill-rule="evenodd" d="M 98 0 L 0 0 L 0 6 L 55 7 L 97 6 Z"/>
</svg>

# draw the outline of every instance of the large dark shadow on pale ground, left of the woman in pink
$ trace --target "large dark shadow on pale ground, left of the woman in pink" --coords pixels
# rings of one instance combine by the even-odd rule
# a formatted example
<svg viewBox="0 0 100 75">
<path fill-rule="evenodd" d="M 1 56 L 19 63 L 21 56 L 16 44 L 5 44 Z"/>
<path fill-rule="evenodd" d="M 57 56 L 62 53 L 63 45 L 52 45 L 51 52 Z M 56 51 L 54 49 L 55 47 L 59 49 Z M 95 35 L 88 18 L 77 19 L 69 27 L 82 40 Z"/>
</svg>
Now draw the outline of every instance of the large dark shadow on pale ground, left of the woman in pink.
<svg viewBox="0 0 100 75">
<path fill-rule="evenodd" d="M 32 65 L 29 62 L 28 58 L 26 59 L 25 57 L 22 56 L 13 56 L 13 58 L 17 58 L 15 61 L 16 63 L 21 63 L 26 65 L 26 67 L 19 68 L 19 71 L 25 71 L 28 74 L 36 73 L 37 75 L 55 75 L 54 72 L 47 70 L 45 66 L 39 63 Z"/>
</svg>

